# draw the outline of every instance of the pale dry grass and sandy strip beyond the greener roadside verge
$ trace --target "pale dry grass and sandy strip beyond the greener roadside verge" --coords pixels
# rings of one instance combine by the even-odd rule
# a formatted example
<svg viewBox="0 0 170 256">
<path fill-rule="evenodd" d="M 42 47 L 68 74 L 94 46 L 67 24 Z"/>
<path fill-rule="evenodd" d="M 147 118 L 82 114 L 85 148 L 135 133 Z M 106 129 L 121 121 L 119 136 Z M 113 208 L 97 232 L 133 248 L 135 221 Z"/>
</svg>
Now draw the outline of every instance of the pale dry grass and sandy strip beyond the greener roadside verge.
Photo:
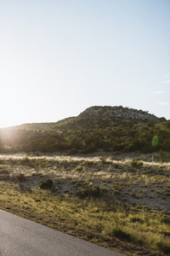
<svg viewBox="0 0 170 256">
<path fill-rule="evenodd" d="M 132 160 L 143 166 L 132 168 Z M 170 213 L 170 163 L 151 162 L 151 154 L 0 154 L 0 180 L 34 189 L 47 178 L 54 181 L 55 193 L 77 194 L 84 184 L 107 189 L 114 201 L 143 205 Z M 81 168 L 77 168 L 80 167 Z M 20 182 L 23 174 L 26 181 Z M 106 198 L 105 198 L 106 200 Z"/>
</svg>

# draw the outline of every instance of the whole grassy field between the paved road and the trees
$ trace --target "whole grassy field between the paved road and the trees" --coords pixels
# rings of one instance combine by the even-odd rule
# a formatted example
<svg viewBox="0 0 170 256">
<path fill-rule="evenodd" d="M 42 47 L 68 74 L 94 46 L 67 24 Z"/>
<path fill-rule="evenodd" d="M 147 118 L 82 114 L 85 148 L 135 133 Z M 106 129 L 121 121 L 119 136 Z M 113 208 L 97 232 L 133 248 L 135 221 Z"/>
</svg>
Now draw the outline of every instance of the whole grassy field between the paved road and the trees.
<svg viewBox="0 0 170 256">
<path fill-rule="evenodd" d="M 0 155 L 0 208 L 127 255 L 170 254 L 170 163 Z"/>
</svg>

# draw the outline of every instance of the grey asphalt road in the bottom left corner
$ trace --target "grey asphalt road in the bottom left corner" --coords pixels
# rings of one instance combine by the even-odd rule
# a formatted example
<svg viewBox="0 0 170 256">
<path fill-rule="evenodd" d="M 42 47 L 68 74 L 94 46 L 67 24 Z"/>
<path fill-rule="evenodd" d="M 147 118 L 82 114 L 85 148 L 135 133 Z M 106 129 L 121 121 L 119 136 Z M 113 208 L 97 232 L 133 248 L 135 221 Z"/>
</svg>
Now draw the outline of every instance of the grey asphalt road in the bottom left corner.
<svg viewBox="0 0 170 256">
<path fill-rule="evenodd" d="M 0 210 L 0 256 L 123 256 Z"/>
</svg>

